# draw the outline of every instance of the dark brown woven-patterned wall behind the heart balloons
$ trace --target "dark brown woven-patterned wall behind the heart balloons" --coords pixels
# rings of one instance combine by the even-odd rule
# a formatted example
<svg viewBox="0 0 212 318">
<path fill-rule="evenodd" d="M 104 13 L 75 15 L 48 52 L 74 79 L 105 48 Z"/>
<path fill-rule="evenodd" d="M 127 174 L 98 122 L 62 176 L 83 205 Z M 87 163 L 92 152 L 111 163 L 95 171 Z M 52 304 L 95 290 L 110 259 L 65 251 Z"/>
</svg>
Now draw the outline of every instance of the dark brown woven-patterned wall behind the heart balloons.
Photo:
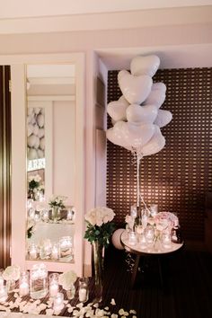
<svg viewBox="0 0 212 318">
<path fill-rule="evenodd" d="M 108 102 L 121 95 L 117 75 L 109 72 Z M 205 195 L 212 190 L 212 68 L 159 70 L 154 81 L 166 84 L 162 109 L 173 119 L 162 128 L 163 150 L 142 159 L 141 193 L 147 205 L 178 213 L 185 238 L 203 240 Z M 122 225 L 137 202 L 136 165 L 123 147 L 108 141 L 107 151 L 107 206 Z"/>
</svg>

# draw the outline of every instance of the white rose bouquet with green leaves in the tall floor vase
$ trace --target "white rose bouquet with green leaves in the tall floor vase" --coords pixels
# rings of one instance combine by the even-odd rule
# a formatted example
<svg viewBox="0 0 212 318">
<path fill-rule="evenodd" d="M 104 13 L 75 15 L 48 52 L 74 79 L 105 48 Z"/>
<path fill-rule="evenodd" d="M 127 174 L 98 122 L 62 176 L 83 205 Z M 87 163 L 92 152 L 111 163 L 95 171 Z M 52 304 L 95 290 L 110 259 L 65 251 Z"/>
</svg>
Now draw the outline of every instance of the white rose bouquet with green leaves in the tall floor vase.
<svg viewBox="0 0 212 318">
<path fill-rule="evenodd" d="M 84 238 L 90 243 L 99 242 L 102 246 L 108 246 L 110 235 L 115 229 L 111 222 L 115 213 L 111 208 L 93 208 L 85 215 L 87 229 Z"/>
</svg>

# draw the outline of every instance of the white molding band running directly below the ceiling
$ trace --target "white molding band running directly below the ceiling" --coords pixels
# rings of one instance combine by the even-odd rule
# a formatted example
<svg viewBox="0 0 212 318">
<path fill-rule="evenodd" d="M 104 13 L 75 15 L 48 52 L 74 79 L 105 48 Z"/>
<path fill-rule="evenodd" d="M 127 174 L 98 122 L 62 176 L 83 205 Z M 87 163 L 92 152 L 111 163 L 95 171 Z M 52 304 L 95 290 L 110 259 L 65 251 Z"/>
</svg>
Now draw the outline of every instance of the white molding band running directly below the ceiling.
<svg viewBox="0 0 212 318">
<path fill-rule="evenodd" d="M 0 19 L 0 34 L 126 30 L 161 25 L 211 22 L 211 5 Z"/>
</svg>

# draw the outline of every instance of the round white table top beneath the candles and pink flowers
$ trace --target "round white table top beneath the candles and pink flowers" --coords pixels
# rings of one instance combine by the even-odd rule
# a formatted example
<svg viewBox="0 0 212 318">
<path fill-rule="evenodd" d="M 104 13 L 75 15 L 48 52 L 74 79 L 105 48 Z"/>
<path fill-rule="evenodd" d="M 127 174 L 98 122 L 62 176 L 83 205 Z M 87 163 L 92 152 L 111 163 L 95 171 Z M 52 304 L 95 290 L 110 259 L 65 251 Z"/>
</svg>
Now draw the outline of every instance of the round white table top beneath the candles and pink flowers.
<svg viewBox="0 0 212 318">
<path fill-rule="evenodd" d="M 128 242 L 128 232 L 125 230 L 120 235 L 120 242 L 124 246 L 125 250 L 128 252 L 135 253 L 137 255 L 163 255 L 172 252 L 176 252 L 181 249 L 184 243 L 171 243 L 170 247 L 164 247 L 163 244 L 159 241 L 154 244 L 144 244 L 139 243 L 137 240 L 136 244 L 130 244 Z"/>
</svg>

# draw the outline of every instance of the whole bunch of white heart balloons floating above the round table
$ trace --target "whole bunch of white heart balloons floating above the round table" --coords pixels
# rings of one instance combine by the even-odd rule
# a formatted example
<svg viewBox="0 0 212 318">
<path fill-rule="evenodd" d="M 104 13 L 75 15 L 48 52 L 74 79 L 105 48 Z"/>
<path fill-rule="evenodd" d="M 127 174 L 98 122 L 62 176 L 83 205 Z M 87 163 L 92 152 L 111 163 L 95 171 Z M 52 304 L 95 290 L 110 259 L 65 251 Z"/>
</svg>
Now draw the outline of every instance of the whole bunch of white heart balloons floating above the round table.
<svg viewBox="0 0 212 318">
<path fill-rule="evenodd" d="M 172 120 L 169 110 L 160 110 L 166 86 L 152 80 L 159 65 L 160 59 L 155 55 L 134 57 L 130 63 L 131 74 L 122 70 L 118 75 L 123 95 L 107 106 L 113 124 L 107 130 L 107 138 L 142 156 L 154 155 L 163 149 L 165 138 L 160 128 Z"/>
</svg>

